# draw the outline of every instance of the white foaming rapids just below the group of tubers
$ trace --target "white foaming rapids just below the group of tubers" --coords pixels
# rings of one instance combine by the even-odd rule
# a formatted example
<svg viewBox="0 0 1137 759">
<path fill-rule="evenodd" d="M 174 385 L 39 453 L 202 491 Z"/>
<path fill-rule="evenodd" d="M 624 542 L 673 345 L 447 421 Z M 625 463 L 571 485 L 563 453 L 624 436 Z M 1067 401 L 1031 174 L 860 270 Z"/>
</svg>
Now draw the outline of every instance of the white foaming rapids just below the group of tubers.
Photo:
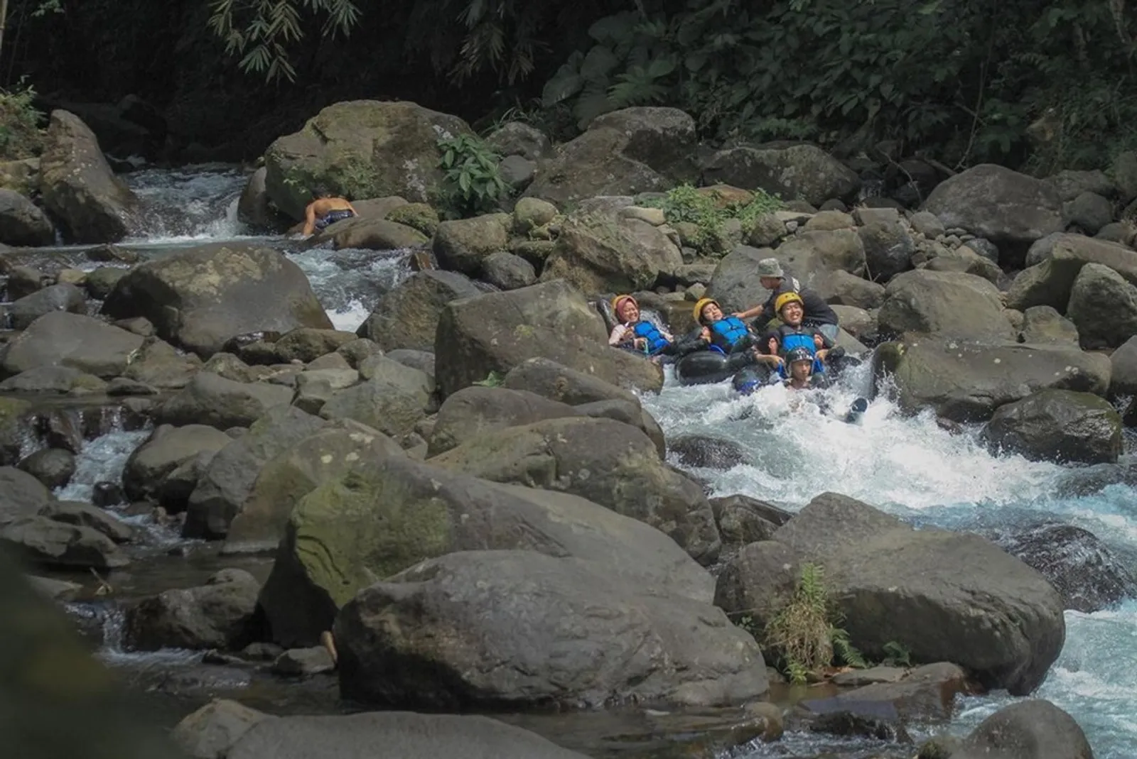
<svg viewBox="0 0 1137 759">
<path fill-rule="evenodd" d="M 746 493 L 789 508 L 825 491 L 893 512 L 1022 502 L 1045 493 L 1062 473 L 1053 464 L 991 456 L 977 431 L 952 435 L 930 411 L 904 416 L 883 397 L 870 403 L 861 424 L 823 414 L 815 402 L 844 412 L 863 380 L 849 377 L 808 394 L 770 386 L 739 397 L 729 383 L 683 387 L 669 378 L 644 404 L 669 437 L 727 437 L 747 450 L 747 464 L 698 472 L 717 493 Z"/>
</svg>

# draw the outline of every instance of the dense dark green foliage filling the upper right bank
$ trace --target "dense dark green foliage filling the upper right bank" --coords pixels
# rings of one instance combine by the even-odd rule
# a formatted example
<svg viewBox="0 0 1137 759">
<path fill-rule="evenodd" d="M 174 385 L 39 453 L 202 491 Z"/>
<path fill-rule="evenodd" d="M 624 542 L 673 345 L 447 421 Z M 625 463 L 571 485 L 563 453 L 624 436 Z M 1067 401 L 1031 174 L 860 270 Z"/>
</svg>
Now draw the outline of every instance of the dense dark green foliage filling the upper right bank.
<svg viewBox="0 0 1137 759">
<path fill-rule="evenodd" d="M 581 128 L 661 103 L 721 141 L 889 139 L 958 166 L 1032 151 L 1037 170 L 1137 145 L 1123 0 L 640 2 L 589 35 L 542 93 Z M 1046 114 L 1043 141 L 1030 127 Z"/>
</svg>

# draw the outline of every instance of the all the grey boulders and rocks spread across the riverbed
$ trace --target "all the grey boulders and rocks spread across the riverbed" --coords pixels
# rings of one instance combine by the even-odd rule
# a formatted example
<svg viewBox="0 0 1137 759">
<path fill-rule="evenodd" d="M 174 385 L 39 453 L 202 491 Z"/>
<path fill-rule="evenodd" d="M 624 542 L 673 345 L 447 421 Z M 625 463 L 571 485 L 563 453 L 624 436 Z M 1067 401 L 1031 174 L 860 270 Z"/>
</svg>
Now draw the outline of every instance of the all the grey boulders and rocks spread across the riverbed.
<svg viewBox="0 0 1137 759">
<path fill-rule="evenodd" d="M 342 332 L 272 245 L 142 260 L 114 245 L 138 228 L 138 199 L 83 123 L 52 114 L 38 165 L 0 172 L 24 183 L 0 190 L 0 242 L 58 232 L 97 266 L 0 256 L 0 543 L 113 584 L 135 535 L 105 507 L 155 514 L 223 557 L 274 561 L 264 582 L 230 568 L 133 603 L 134 650 L 334 670 L 345 699 L 381 709 L 733 708 L 749 726 L 737 742 L 777 739 L 785 718 L 903 744 L 906 722 L 948 718 L 955 693 L 1032 693 L 1062 649 L 1064 609 L 1132 594 L 1124 572 L 1079 572 L 1047 541 L 914 529 L 838 493 L 796 514 L 708 497 L 682 458 L 729 451 L 665 439 L 640 401 L 663 373 L 607 345 L 597 301 L 632 292 L 687 332 L 703 295 L 727 310 L 763 301 L 755 264 L 773 257 L 835 305 L 844 344 L 875 347 L 904 410 L 982 425 L 995 450 L 1110 465 L 1134 414 L 1114 402 L 1137 389 L 1137 230 L 1118 210 L 1137 177 L 922 173 L 905 207 L 860 194 L 862 177 L 814 145 L 706 151 L 689 115 L 631 108 L 556 147 L 501 126 L 489 142 L 518 197 L 443 220 L 438 139 L 470 132 L 414 103 L 338 103 L 250 176 L 240 208 L 252 225 L 287 228 L 313 186 L 350 181 L 367 190 L 351 198 L 359 216 L 306 244 L 409 251 L 415 272 Z M 646 202 L 682 182 L 788 202 L 728 225 L 709 257 Z M 85 410 L 60 414 L 67 403 Z M 152 432 L 121 485 L 100 483 L 93 504 L 60 501 L 100 404 Z M 30 428 L 47 444 L 27 456 Z M 1088 533 L 1061 539 L 1096 548 Z M 736 623 L 771 619 L 807 562 L 824 566 L 865 656 L 898 642 L 913 666 L 866 670 L 783 716 Z M 277 718 L 227 701 L 175 735 L 192 756 L 230 759 L 355 757 L 376 741 L 392 757 L 579 756 L 483 717 Z M 1007 753 L 1007 735 L 1070 752 Z M 1045 701 L 937 750 L 927 756 L 1092 756 Z"/>
</svg>

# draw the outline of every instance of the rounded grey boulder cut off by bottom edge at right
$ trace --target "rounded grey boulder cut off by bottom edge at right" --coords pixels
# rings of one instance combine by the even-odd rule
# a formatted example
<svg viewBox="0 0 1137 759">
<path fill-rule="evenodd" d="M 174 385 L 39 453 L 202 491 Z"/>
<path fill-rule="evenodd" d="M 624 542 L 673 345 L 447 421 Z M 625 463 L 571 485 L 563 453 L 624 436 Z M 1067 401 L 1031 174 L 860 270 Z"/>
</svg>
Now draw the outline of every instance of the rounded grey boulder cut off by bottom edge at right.
<svg viewBox="0 0 1137 759">
<path fill-rule="evenodd" d="M 1073 717 L 1030 699 L 981 722 L 951 759 L 1094 759 L 1094 750 Z"/>
</svg>

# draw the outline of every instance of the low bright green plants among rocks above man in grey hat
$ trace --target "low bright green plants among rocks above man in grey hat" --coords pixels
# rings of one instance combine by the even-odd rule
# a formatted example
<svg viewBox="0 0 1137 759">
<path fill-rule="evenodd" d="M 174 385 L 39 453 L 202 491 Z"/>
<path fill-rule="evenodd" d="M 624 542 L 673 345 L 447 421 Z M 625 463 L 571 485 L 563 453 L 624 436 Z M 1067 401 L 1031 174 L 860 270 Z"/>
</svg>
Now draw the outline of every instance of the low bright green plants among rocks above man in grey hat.
<svg viewBox="0 0 1137 759">
<path fill-rule="evenodd" d="M 754 228 L 758 216 L 785 208 L 781 199 L 764 190 L 755 190 L 747 203 L 729 202 L 715 191 L 690 184 L 672 187 L 663 198 L 649 198 L 644 206 L 663 209 L 669 224 L 694 225 L 688 242 L 704 255 L 721 256 L 733 248 L 724 239 L 728 219 L 738 219 L 744 234 Z"/>
</svg>

